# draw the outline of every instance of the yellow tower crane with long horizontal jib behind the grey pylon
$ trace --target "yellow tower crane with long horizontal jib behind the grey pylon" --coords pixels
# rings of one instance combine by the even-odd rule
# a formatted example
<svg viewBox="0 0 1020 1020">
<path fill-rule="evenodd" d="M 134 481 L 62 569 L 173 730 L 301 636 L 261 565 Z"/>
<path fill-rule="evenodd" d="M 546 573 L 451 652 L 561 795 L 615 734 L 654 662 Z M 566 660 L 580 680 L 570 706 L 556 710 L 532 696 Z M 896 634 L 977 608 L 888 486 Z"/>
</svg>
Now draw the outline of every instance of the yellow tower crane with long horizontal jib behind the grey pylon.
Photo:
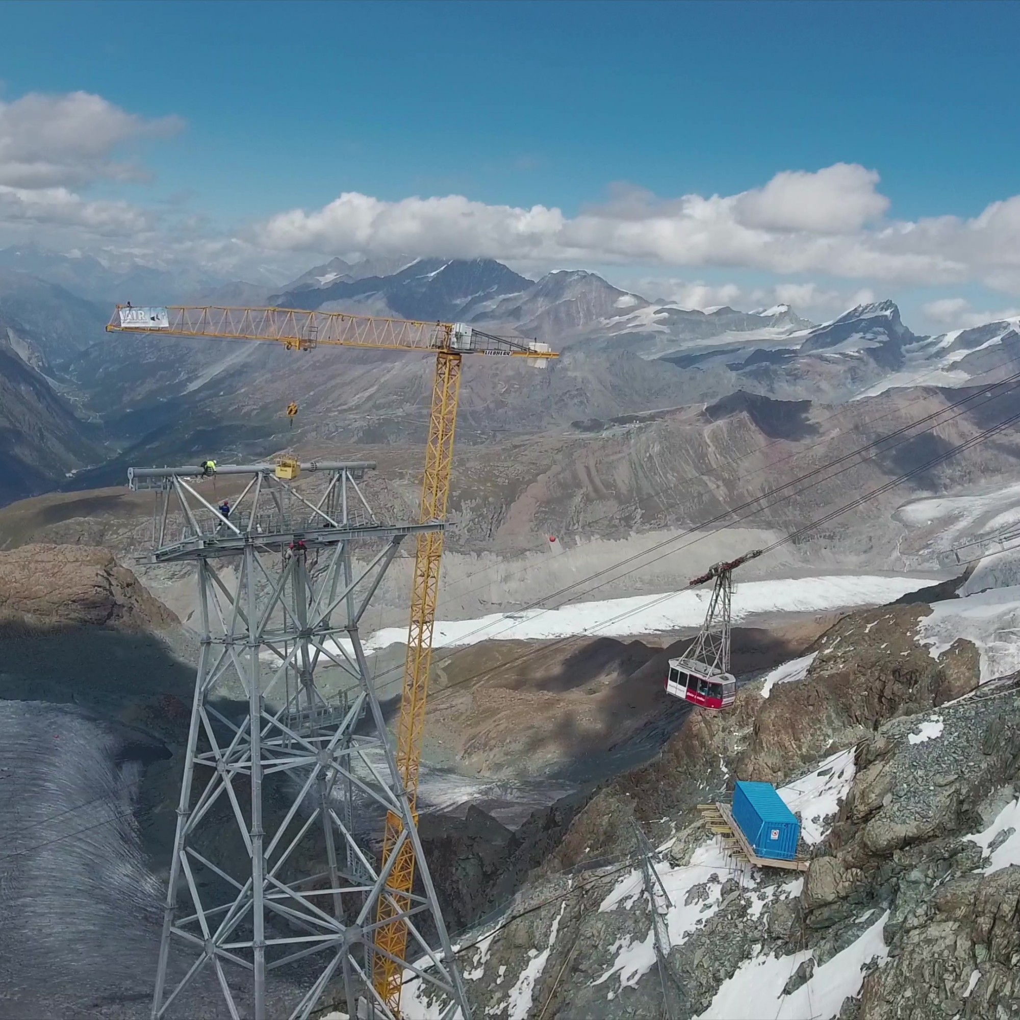
<svg viewBox="0 0 1020 1020">
<path fill-rule="evenodd" d="M 118 305 L 106 329 L 108 333 L 268 341 L 283 344 L 288 350 L 298 351 L 309 351 L 319 345 L 386 351 L 434 351 L 436 374 L 425 448 L 425 471 L 421 484 L 422 523 L 446 517 L 462 356 L 488 354 L 524 357 L 538 367 L 544 366 L 548 359 L 558 357 L 547 344 L 506 340 L 464 323 L 414 322 L 289 308 L 133 308 L 130 304 Z M 415 821 L 442 555 L 442 531 L 428 531 L 418 536 L 411 589 L 407 660 L 397 727 L 397 766 L 407 789 Z M 400 818 L 390 812 L 382 845 L 384 868 L 393 856 L 402 827 Z M 405 895 L 412 890 L 414 856 L 411 844 L 407 840 L 402 844 L 393 864 L 389 884 Z M 381 926 L 376 931 L 375 941 L 390 956 L 375 954 L 372 981 L 394 1015 L 398 1015 L 400 1011 L 403 973 L 400 965 L 391 958 L 403 960 L 407 951 L 407 925 L 402 915 L 409 906 L 410 900 L 403 897 L 393 900 L 382 898 L 379 900 L 376 918 Z"/>
</svg>

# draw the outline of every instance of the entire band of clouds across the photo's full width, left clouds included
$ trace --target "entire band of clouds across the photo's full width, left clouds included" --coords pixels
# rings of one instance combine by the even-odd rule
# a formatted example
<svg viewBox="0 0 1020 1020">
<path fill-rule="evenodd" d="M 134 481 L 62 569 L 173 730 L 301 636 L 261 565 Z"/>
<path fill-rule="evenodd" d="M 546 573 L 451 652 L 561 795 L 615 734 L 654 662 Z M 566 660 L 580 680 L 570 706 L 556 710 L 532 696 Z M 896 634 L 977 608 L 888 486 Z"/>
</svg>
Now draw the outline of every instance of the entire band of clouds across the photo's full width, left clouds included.
<svg viewBox="0 0 1020 1020">
<path fill-rule="evenodd" d="M 870 295 L 890 286 L 978 283 L 1020 296 L 1020 195 L 969 219 L 889 219 L 878 173 L 856 163 L 784 170 L 728 196 L 659 198 L 616 186 L 608 201 L 576 214 L 461 195 L 385 201 L 345 192 L 322 208 L 290 209 L 234 232 L 165 203 L 145 209 L 88 194 L 98 182 L 144 177 L 131 148 L 180 126 L 178 118 L 147 119 L 85 92 L 0 102 L 0 230 L 18 237 L 34 232 L 47 243 L 59 237 L 65 248 L 119 237 L 132 249 L 234 273 L 320 256 L 403 254 L 491 257 L 534 274 L 584 265 L 642 266 L 650 275 L 661 268 L 685 277 L 702 267 L 727 275 L 743 270 L 786 282 L 749 290 L 681 278 L 669 293 L 656 283 L 632 289 L 660 291 L 686 307 L 784 302 L 811 317 L 846 309 L 860 288 Z M 947 307 L 932 314 L 957 313 Z M 979 314 L 965 308 L 957 319 Z"/>
</svg>

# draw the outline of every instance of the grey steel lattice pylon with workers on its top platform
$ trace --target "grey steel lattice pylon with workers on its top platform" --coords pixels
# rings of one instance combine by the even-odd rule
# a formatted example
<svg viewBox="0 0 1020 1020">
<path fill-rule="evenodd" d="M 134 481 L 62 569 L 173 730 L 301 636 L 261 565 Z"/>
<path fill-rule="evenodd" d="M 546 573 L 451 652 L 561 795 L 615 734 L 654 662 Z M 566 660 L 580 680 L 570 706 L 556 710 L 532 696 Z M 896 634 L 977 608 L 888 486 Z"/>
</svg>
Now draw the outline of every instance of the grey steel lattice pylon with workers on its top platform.
<svg viewBox="0 0 1020 1020">
<path fill-rule="evenodd" d="M 372 981 L 384 958 L 443 1002 L 444 1017 L 468 1020 L 359 635 L 403 539 L 439 539 L 442 524 L 380 523 L 357 484 L 373 466 L 301 465 L 325 478 L 314 498 L 276 477 L 272 464 L 220 467 L 215 477 L 248 476 L 226 515 L 195 484 L 201 468 L 130 472 L 134 488 L 157 490 L 153 561 L 196 561 L 199 585 L 201 651 L 154 1018 L 176 1015 L 174 1004 L 210 970 L 235 1018 L 307 1018 L 339 985 L 350 1014 L 361 999 L 370 1015 L 395 1020 L 399 998 L 395 1006 Z M 355 560 L 356 546 L 368 555 Z M 316 682 L 325 666 L 348 681 L 332 699 Z M 231 698 L 245 709 L 232 712 Z M 359 836 L 357 814 L 371 810 L 401 822 L 381 868 Z M 211 859 L 214 825 L 231 828 L 242 851 Z M 214 842 L 223 845 L 219 829 Z M 312 858 L 319 870 L 307 867 Z M 421 894 L 395 884 L 394 865 L 407 858 Z M 394 921 L 422 966 L 379 937 Z M 423 921 L 438 933 L 437 950 Z M 235 968 L 243 980 L 231 980 Z"/>
</svg>

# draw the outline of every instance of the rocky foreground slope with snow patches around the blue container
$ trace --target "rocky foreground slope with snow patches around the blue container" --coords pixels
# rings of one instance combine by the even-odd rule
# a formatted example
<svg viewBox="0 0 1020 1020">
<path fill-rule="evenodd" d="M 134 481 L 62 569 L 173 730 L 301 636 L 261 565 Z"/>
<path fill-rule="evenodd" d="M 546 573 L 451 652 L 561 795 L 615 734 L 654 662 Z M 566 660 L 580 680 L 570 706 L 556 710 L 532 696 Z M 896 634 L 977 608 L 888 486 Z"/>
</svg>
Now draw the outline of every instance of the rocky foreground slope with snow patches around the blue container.
<svg viewBox="0 0 1020 1020">
<path fill-rule="evenodd" d="M 449 836 L 475 1011 L 1012 1016 L 1020 697 L 1010 677 L 977 688 L 981 642 L 924 636 L 969 598 L 852 614 L 732 711 L 696 710 L 659 761 L 495 844 L 477 816 Z M 806 874 L 751 869 L 698 820 L 734 778 L 781 787 Z M 659 848 L 647 857 L 638 827 Z M 430 1015 L 408 978 L 407 1015 Z"/>
</svg>

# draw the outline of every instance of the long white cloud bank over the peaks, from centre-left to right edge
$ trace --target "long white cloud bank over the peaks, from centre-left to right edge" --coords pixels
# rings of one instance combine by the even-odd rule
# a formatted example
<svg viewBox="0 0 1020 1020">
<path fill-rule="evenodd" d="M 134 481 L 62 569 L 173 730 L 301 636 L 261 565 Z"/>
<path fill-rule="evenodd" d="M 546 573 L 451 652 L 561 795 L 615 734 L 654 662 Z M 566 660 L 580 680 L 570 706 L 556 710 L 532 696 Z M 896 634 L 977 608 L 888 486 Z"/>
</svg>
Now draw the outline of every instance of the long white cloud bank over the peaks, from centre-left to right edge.
<svg viewBox="0 0 1020 1020">
<path fill-rule="evenodd" d="M 573 217 L 459 195 L 387 202 L 347 192 L 322 209 L 279 213 L 254 238 L 284 251 L 728 266 L 915 285 L 979 279 L 1020 293 L 1020 196 L 973 219 L 873 222 L 888 206 L 877 183 L 873 170 L 837 163 L 784 171 L 733 196 L 663 200 L 617 189 Z"/>
</svg>

